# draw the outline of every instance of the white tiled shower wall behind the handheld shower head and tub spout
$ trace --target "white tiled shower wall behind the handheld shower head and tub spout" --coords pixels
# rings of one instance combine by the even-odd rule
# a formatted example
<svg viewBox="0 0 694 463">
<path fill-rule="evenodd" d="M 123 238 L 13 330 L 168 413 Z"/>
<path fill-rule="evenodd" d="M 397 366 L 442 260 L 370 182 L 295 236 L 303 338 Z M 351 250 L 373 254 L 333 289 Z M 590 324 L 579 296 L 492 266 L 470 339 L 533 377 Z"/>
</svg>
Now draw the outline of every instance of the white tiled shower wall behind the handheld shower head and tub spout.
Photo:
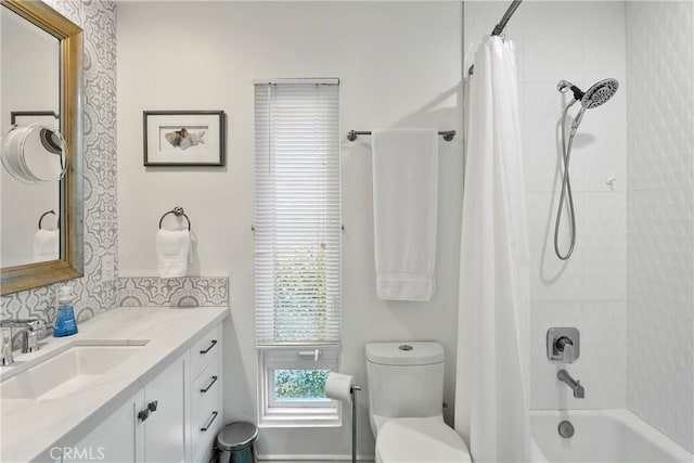
<svg viewBox="0 0 694 463">
<path fill-rule="evenodd" d="M 465 2 L 465 70 L 506 2 Z M 626 51 L 624 2 L 524 2 L 506 28 L 517 47 L 522 138 L 531 256 L 531 408 L 626 407 Z M 567 95 L 561 79 L 587 90 L 619 80 L 617 94 L 587 112 L 576 136 L 570 175 L 578 237 L 562 263 L 553 233 L 561 191 L 556 129 Z M 573 111 L 573 110 L 571 110 Z M 614 191 L 605 183 L 616 177 Z M 566 223 L 565 223 L 566 226 Z M 564 231 L 567 228 L 564 226 Z M 563 234 L 564 236 L 566 233 Z M 576 326 L 580 359 L 567 370 L 584 399 L 556 380 L 547 359 L 551 326 Z"/>
</svg>

